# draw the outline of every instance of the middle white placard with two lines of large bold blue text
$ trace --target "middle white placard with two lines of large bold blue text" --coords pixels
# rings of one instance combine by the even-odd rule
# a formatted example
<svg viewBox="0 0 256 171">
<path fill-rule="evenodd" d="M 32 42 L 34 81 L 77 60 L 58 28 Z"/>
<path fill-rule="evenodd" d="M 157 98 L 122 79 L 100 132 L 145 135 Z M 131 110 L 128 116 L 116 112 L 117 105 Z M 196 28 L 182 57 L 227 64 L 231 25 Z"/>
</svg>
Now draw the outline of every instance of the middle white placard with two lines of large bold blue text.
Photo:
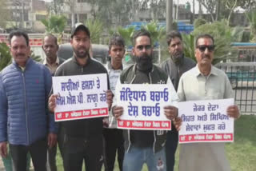
<svg viewBox="0 0 256 171">
<path fill-rule="evenodd" d="M 171 121 L 166 118 L 163 109 L 177 102 L 177 94 L 171 82 L 117 84 L 115 93 L 117 105 L 124 109 L 118 120 L 119 129 L 171 129 Z"/>
</svg>

